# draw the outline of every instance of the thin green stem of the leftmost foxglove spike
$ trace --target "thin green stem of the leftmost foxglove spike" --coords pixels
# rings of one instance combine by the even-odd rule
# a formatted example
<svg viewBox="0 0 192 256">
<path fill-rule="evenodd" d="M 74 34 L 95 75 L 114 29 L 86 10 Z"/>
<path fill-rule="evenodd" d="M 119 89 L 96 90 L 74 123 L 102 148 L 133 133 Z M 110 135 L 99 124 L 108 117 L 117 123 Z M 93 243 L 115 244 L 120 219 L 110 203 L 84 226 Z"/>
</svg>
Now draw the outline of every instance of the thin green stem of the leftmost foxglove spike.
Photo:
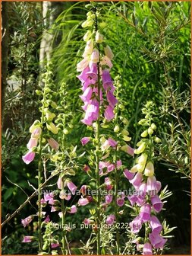
<svg viewBox="0 0 192 256">
<path fill-rule="evenodd" d="M 46 75 L 46 82 L 43 91 L 43 98 L 42 98 L 42 115 L 41 115 L 41 128 L 43 130 L 43 123 L 44 123 L 44 109 L 45 109 L 45 101 L 46 101 L 46 85 L 47 85 L 47 78 Z M 42 251 L 42 232 L 41 232 L 41 225 L 42 225 L 42 206 L 41 206 L 41 180 L 42 180 L 42 139 L 43 133 L 41 133 L 39 137 L 39 164 L 38 164 L 38 226 L 39 226 L 39 252 Z"/>
</svg>

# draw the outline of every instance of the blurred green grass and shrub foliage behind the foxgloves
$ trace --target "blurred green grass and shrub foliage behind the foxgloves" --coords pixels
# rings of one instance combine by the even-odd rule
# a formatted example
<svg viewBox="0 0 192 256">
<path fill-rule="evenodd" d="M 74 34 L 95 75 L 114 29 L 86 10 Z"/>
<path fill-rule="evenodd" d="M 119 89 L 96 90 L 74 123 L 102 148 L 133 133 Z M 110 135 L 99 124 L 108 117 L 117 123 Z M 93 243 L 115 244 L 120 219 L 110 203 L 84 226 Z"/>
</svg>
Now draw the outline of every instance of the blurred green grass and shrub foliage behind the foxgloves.
<svg viewBox="0 0 192 256">
<path fill-rule="evenodd" d="M 80 26 L 86 18 L 84 2 L 64 2 L 51 31 L 57 45 L 52 52 L 55 84 L 68 88 L 66 104 L 73 116 L 73 130 L 67 143 L 78 146 L 80 138 L 89 133 L 80 123 L 82 110 L 80 82 L 76 78 L 76 64 L 83 53 L 84 30 Z M 102 33 L 107 38 L 115 58 L 112 77 L 121 75 L 124 114 L 129 120 L 128 130 L 135 146 L 140 134 L 137 125 L 141 108 L 148 100 L 156 103 L 159 119 L 157 130 L 162 144 L 156 149 L 159 162 L 156 176 L 162 187 L 172 190 L 164 215 L 175 229 L 171 247 L 190 245 L 190 2 L 99 2 L 102 19 L 106 23 Z M 5 125 L 2 133 L 2 220 L 33 193 L 36 162 L 24 165 L 21 156 L 26 151 L 28 127 L 38 117 L 39 44 L 42 36 L 40 2 L 13 2 L 9 9 L 10 43 Z M 125 159 L 130 167 L 132 160 Z M 84 164 L 85 162 L 80 162 Z M 10 183 L 8 179 L 14 183 Z M 74 183 L 86 180 L 80 170 Z M 179 200 L 178 200 L 179 198 Z M 76 199 L 74 199 L 76 200 Z M 32 200 L 35 205 L 36 200 Z M 32 254 L 33 245 L 21 245 L 24 231 L 20 219 L 36 213 L 26 206 L 2 229 L 3 254 Z M 86 217 L 80 208 L 68 219 L 78 222 Z M 83 234 L 83 239 L 87 237 Z M 71 242 L 82 238 L 81 231 L 69 234 Z M 16 249 L 17 248 L 17 249 Z M 34 250 L 34 251 L 33 251 Z M 171 251 L 172 252 L 172 251 Z M 173 251 L 173 253 L 175 253 Z M 186 253 L 189 253 L 186 251 Z"/>
</svg>

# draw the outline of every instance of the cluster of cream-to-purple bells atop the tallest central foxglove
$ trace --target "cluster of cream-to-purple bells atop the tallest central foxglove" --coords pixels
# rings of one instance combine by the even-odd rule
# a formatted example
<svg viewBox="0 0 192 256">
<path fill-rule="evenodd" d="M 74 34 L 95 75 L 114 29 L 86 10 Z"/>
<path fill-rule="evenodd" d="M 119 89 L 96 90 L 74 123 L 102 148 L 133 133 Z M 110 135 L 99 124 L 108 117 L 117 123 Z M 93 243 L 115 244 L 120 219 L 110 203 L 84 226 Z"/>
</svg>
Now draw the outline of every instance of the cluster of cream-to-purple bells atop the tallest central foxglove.
<svg viewBox="0 0 192 256">
<path fill-rule="evenodd" d="M 81 72 L 77 78 L 82 83 L 83 91 L 80 98 L 84 103 L 82 108 L 85 111 L 85 116 L 81 121 L 87 126 L 92 126 L 93 121 L 98 119 L 99 106 L 102 104 L 104 105 L 105 119 L 112 120 L 115 117 L 115 104 L 118 102 L 113 94 L 115 87 L 109 73 L 114 56 L 112 50 L 103 43 L 103 35 L 98 30 L 93 32 L 92 36 L 90 34 L 89 30 L 89 37 L 92 38 L 87 40 L 83 52 L 84 59 L 77 63 L 77 72 Z M 95 37 L 95 41 L 93 37 Z M 102 83 L 102 86 L 98 85 L 98 82 Z M 100 91 L 99 95 L 98 91 Z"/>
</svg>

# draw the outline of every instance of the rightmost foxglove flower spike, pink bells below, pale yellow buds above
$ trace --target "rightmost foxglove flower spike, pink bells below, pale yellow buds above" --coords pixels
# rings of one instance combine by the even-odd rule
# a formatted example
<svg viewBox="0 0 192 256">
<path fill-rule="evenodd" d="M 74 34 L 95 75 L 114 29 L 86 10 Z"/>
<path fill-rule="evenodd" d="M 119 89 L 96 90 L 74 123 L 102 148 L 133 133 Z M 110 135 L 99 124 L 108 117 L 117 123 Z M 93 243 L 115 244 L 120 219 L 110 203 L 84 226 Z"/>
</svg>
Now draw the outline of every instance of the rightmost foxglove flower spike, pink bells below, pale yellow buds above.
<svg viewBox="0 0 192 256">
<path fill-rule="evenodd" d="M 143 109 L 143 114 L 149 112 L 150 117 L 150 104 L 146 104 L 148 108 Z M 146 117 L 148 117 L 146 115 Z M 161 189 L 161 182 L 156 181 L 154 165 L 153 165 L 153 137 L 151 136 L 151 127 L 156 127 L 151 124 L 151 119 L 146 121 L 149 123 L 150 128 L 141 133 L 141 137 L 146 138 L 150 135 L 149 140 L 141 139 L 137 143 L 138 148 L 134 150 L 135 154 L 140 154 L 136 160 L 136 164 L 130 171 L 124 170 L 124 176 L 137 190 L 137 195 L 128 197 L 131 206 L 140 207 L 138 216 L 130 222 L 131 232 L 138 233 L 142 226 L 145 226 L 147 236 L 144 239 L 143 254 L 153 254 L 153 249 L 162 249 L 167 242 L 167 239 L 162 237 L 162 224 L 156 217 L 156 214 L 162 210 L 162 200 L 158 196 Z M 143 121 L 144 122 L 144 121 Z M 155 140 L 154 140 L 155 141 Z"/>
</svg>

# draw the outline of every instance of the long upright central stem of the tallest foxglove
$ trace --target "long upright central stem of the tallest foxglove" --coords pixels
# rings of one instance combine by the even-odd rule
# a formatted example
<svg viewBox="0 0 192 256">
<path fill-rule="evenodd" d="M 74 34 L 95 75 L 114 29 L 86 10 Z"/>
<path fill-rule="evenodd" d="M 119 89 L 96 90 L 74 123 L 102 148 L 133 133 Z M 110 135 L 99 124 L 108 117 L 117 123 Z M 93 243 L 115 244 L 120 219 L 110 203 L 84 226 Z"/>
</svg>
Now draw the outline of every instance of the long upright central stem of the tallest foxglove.
<svg viewBox="0 0 192 256">
<path fill-rule="evenodd" d="M 95 15 L 96 15 L 96 8 L 95 8 Z M 97 16 L 96 16 L 96 31 L 98 30 L 98 24 L 97 24 Z M 96 44 L 98 50 L 100 51 L 99 43 Z M 99 53 L 100 54 L 100 53 Z M 99 56 L 99 62 L 97 63 L 97 70 L 98 70 L 98 82 L 97 82 L 97 88 L 98 88 L 98 102 L 99 102 L 99 117 L 96 121 L 96 216 L 97 216 L 97 245 L 96 245 L 96 253 L 99 255 L 101 254 L 101 245 L 100 245 L 100 203 L 101 203 L 101 196 L 100 196 L 100 175 L 99 175 L 99 150 L 100 150 L 100 56 Z"/>
</svg>

